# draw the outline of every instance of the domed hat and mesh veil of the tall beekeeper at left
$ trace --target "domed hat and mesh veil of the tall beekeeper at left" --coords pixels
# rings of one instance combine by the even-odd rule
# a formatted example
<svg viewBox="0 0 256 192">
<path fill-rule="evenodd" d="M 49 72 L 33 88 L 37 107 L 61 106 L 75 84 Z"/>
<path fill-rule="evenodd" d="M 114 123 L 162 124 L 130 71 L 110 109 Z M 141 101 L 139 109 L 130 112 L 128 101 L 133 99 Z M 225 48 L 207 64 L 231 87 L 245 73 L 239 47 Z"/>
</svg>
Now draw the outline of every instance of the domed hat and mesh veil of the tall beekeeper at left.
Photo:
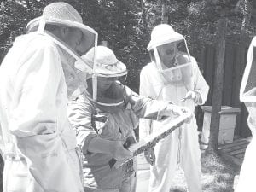
<svg viewBox="0 0 256 192">
<path fill-rule="evenodd" d="M 75 49 L 49 32 L 47 27 L 66 26 L 70 30 L 78 29 L 79 44 L 76 43 Z M 44 8 L 43 15 L 30 21 L 26 26 L 26 33 L 38 32 L 40 35 L 50 38 L 60 49 L 61 63 L 65 74 L 67 84 L 67 94 L 69 97 L 78 96 L 84 90 L 84 73 L 91 74 L 93 71 L 93 62 L 85 62 L 81 56 L 90 49 L 96 47 L 97 32 L 85 26 L 83 20 L 76 9 L 68 3 L 50 3 Z M 81 33 L 80 33 L 81 32 Z M 93 53 L 95 57 L 96 52 Z M 70 57 L 71 56 L 71 57 Z M 75 68 L 74 62 L 83 62 L 84 68 Z"/>
</svg>

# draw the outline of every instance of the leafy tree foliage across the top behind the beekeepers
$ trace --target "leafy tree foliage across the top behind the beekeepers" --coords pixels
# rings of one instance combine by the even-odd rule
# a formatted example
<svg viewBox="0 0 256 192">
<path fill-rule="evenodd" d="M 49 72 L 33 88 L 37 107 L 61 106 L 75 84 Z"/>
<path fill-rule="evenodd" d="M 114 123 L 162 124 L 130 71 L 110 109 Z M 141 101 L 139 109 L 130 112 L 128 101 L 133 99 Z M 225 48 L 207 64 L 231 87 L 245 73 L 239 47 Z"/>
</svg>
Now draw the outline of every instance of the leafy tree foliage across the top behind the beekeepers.
<svg viewBox="0 0 256 192">
<path fill-rule="evenodd" d="M 201 47 L 214 44 L 217 23 L 224 10 L 228 38 L 241 34 L 252 38 L 256 29 L 253 0 L 63 0 L 81 13 L 84 23 L 108 41 L 129 69 L 127 84 L 138 90 L 139 73 L 149 61 L 147 44 L 152 28 L 160 24 L 164 6 L 168 23 L 188 41 L 191 55 L 199 61 Z M 0 5 L 0 61 L 26 23 L 41 15 L 49 0 L 2 0 Z M 245 21 L 246 20 L 246 21 Z M 200 64 L 201 65 L 201 64 Z"/>
</svg>

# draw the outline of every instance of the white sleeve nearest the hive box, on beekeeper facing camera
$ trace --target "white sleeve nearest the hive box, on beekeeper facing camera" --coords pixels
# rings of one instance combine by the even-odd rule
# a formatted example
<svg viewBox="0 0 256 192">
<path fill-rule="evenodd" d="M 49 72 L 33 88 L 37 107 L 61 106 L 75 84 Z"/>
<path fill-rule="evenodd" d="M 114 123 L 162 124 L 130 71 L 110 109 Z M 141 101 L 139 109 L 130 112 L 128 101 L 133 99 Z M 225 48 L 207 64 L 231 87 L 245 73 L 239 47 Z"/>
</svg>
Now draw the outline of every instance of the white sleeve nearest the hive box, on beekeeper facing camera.
<svg viewBox="0 0 256 192">
<path fill-rule="evenodd" d="M 201 71 L 193 58 L 193 69 L 195 73 L 195 79 L 194 79 L 194 90 L 198 92 L 201 96 L 201 99 L 199 99 L 199 102 L 196 103 L 197 105 L 203 105 L 207 101 L 207 95 L 209 91 L 209 86 L 204 79 L 204 77 L 201 74 Z"/>
</svg>

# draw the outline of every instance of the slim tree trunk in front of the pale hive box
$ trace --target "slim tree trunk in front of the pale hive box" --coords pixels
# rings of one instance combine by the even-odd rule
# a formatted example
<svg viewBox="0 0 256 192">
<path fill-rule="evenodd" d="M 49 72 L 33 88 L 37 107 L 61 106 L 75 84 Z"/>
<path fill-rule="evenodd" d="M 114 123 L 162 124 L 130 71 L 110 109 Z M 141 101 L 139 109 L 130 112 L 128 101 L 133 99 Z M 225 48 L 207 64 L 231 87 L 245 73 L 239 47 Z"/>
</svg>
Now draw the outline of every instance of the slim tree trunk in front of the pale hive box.
<svg viewBox="0 0 256 192">
<path fill-rule="evenodd" d="M 212 117 L 210 125 L 209 146 L 207 154 L 218 152 L 218 132 L 219 119 L 222 103 L 223 81 L 224 81 L 224 58 L 225 58 L 225 37 L 226 37 L 227 21 L 222 16 L 218 22 L 218 47 L 217 47 L 217 63 L 214 73 L 213 95 L 212 95 Z"/>
</svg>

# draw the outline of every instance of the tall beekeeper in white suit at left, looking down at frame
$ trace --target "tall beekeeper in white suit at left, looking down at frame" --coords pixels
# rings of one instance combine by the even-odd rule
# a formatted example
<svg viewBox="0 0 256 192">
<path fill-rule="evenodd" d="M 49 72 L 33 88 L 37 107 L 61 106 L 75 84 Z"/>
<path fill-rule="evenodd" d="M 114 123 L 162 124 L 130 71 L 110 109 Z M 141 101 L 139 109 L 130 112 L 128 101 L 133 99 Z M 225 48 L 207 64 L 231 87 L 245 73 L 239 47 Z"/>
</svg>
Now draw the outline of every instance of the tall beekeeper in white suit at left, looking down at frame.
<svg viewBox="0 0 256 192">
<path fill-rule="evenodd" d="M 3 191 L 82 192 L 67 86 L 71 96 L 81 85 L 73 63 L 96 45 L 97 34 L 61 2 L 46 6 L 26 32 L 0 67 Z"/>
</svg>

